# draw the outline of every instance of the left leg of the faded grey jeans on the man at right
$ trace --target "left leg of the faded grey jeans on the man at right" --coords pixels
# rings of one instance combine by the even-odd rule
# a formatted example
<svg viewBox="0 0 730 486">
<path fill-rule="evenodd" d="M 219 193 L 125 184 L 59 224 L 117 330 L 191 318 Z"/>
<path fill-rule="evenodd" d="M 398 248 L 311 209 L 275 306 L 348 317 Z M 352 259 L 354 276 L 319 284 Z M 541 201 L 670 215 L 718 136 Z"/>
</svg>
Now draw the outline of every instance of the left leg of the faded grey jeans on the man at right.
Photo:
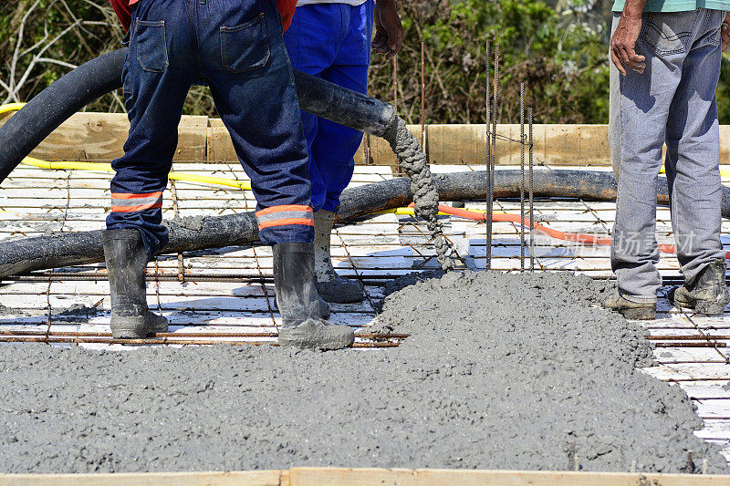
<svg viewBox="0 0 730 486">
<path fill-rule="evenodd" d="M 646 69 L 642 74 L 629 69 L 626 76 L 611 77 L 611 154 L 619 158 L 613 163 L 620 169 L 611 266 L 620 297 L 633 303 L 655 303 L 662 283 L 655 266 L 657 182 L 669 107 L 696 31 L 696 16 L 695 11 L 645 13 L 636 47 L 646 57 Z M 620 14 L 614 15 L 614 30 L 619 18 Z M 666 29 L 677 36 L 662 36 Z"/>
</svg>

